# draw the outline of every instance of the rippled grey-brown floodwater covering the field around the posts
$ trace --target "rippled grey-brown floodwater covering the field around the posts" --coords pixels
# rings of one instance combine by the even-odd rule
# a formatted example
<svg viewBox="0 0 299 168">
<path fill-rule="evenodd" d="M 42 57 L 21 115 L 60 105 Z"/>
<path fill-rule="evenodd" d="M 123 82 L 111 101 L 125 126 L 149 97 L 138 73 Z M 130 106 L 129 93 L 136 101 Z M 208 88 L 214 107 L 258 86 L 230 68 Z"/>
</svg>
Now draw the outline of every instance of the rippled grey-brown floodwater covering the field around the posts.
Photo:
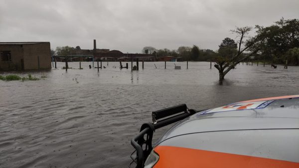
<svg viewBox="0 0 299 168">
<path fill-rule="evenodd" d="M 238 65 L 219 84 L 208 62 L 145 62 L 145 69 L 89 69 L 57 63 L 40 81 L 0 81 L 1 168 L 127 168 L 130 140 L 151 111 L 186 103 L 206 109 L 241 100 L 299 94 L 299 67 Z M 125 63 L 123 63 L 125 65 Z M 157 68 L 155 68 L 155 66 Z M 95 63 L 96 67 L 96 63 Z M 76 69 L 75 69 L 76 68 Z M 11 73 L 11 72 L 10 72 Z M 0 75 L 5 75 L 1 72 Z M 155 132 L 157 139 L 166 128 Z"/>
</svg>

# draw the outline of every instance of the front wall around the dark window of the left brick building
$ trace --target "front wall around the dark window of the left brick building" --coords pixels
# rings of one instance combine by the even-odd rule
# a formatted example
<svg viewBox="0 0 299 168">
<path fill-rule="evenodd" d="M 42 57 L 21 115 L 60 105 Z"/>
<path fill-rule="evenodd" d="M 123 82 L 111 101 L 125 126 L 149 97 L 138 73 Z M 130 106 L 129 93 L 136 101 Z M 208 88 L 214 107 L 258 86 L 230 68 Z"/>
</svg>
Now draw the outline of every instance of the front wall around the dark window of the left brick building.
<svg viewBox="0 0 299 168">
<path fill-rule="evenodd" d="M 21 70 L 21 59 L 23 59 L 22 45 L 0 45 L 1 51 L 10 51 L 11 61 L 2 61 L 0 58 L 0 69 Z"/>
</svg>

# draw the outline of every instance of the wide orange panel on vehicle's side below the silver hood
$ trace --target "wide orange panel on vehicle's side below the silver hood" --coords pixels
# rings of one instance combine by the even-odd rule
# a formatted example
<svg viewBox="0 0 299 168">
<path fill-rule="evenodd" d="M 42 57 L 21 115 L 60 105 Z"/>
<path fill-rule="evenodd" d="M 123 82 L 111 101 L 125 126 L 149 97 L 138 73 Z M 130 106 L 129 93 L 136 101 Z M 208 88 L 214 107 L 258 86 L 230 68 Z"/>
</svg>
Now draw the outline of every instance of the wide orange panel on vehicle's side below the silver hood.
<svg viewBox="0 0 299 168">
<path fill-rule="evenodd" d="M 299 168 L 299 163 L 197 149 L 157 146 L 154 168 Z"/>
</svg>

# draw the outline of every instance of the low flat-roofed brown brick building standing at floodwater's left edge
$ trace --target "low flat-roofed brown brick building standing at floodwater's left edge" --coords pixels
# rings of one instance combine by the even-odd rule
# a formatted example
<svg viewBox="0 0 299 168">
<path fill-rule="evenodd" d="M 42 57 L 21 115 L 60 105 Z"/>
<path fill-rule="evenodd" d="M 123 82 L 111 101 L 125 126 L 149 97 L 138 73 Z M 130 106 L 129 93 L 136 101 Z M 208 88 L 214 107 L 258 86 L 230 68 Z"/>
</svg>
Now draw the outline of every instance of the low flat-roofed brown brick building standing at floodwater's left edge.
<svg viewBox="0 0 299 168">
<path fill-rule="evenodd" d="M 50 68 L 50 42 L 0 42 L 0 70 Z"/>
</svg>

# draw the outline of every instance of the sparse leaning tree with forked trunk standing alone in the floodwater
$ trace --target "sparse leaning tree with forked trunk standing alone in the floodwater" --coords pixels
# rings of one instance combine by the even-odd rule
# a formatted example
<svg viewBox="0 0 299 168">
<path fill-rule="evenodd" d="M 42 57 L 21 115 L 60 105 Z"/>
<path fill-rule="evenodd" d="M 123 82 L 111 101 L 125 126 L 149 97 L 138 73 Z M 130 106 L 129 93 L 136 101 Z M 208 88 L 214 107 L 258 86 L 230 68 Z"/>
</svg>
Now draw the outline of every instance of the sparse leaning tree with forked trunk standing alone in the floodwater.
<svg viewBox="0 0 299 168">
<path fill-rule="evenodd" d="M 233 68 L 235 68 L 235 66 L 237 64 L 239 64 L 241 61 L 251 57 L 253 54 L 255 54 L 256 52 L 258 52 L 258 48 L 255 49 L 254 51 L 252 51 L 250 54 L 248 55 L 243 55 L 242 53 L 244 51 L 246 51 L 249 47 L 251 47 L 252 45 L 254 45 L 257 42 L 257 38 L 249 38 L 247 37 L 248 33 L 252 30 L 252 27 L 246 26 L 246 27 L 236 27 L 236 29 L 230 30 L 231 32 L 233 32 L 234 34 L 237 35 L 237 37 L 239 37 L 239 49 L 236 52 L 236 54 L 233 54 L 231 57 L 221 57 L 221 55 L 219 55 L 219 57 L 216 59 L 216 64 L 214 65 L 214 67 L 219 71 L 219 80 L 224 80 L 224 76 Z M 244 42 L 246 38 L 249 38 L 246 43 Z M 243 49 L 241 49 L 241 46 L 244 46 Z M 221 46 L 221 44 L 220 44 Z M 219 46 L 219 47 L 220 47 Z M 234 46 L 234 45 L 232 45 Z"/>
</svg>

